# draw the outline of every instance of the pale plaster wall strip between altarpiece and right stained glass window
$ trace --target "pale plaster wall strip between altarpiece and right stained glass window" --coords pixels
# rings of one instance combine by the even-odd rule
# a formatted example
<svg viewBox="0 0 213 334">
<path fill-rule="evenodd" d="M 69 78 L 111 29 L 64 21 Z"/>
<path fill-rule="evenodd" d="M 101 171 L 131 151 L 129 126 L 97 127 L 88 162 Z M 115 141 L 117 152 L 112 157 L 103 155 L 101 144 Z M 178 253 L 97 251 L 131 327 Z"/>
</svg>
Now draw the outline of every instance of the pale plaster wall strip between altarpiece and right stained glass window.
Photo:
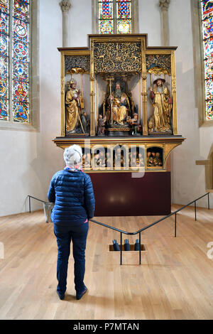
<svg viewBox="0 0 213 334">
<path fill-rule="evenodd" d="M 176 2 L 176 4 L 175 4 Z M 195 109 L 194 60 L 190 0 L 171 1 L 169 9 L 170 45 L 175 53 L 177 75 L 178 134 L 187 140 L 175 149 L 172 164 L 173 203 L 187 203 L 200 191 L 200 171 L 195 160 L 200 158 L 200 134 Z M 187 31 L 187 33 L 185 33 Z"/>
</svg>

